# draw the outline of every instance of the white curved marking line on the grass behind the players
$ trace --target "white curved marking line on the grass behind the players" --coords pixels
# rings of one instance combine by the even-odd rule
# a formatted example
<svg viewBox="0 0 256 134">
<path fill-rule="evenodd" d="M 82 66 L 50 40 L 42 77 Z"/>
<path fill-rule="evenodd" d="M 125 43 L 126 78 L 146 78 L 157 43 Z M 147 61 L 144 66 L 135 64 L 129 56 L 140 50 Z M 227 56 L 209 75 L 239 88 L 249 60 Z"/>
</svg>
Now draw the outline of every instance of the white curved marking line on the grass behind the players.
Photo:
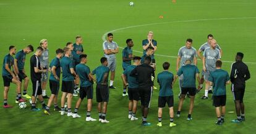
<svg viewBox="0 0 256 134">
<path fill-rule="evenodd" d="M 103 34 L 103 36 L 101 37 L 101 39 L 103 41 L 106 41 L 106 35 L 108 33 L 113 33 L 115 31 L 120 31 L 120 30 L 126 30 L 126 29 L 129 29 L 129 28 L 137 28 L 137 27 L 140 27 L 140 26 L 150 26 L 150 25 L 160 25 L 160 24 L 167 24 L 167 23 L 186 23 L 186 22 L 203 22 L 203 21 L 208 21 L 208 20 L 239 20 L 239 19 L 254 19 L 256 17 L 239 17 L 239 18 L 205 18 L 205 19 L 198 19 L 198 20 L 181 20 L 181 21 L 170 21 L 170 22 L 160 22 L 160 23 L 148 23 L 148 24 L 143 24 L 143 25 L 134 25 L 134 26 L 127 26 L 127 27 L 124 27 L 124 28 L 118 28 L 116 30 L 111 30 L 111 31 L 108 31 L 106 32 L 105 34 Z M 119 47 L 120 49 L 124 49 L 124 47 Z M 143 53 L 141 51 L 138 51 L 138 50 L 133 50 L 134 52 L 137 52 L 137 53 Z M 174 56 L 170 56 L 170 55 L 160 55 L 160 54 L 154 54 L 156 56 L 159 56 L 159 57 L 170 57 L 170 58 L 177 58 L 174 57 Z M 200 60 L 200 59 L 198 59 Z M 233 63 L 234 61 L 226 61 L 226 60 L 222 60 L 223 62 L 227 62 L 227 63 Z M 245 63 L 248 63 L 248 64 L 256 64 L 255 62 L 245 62 Z"/>
</svg>

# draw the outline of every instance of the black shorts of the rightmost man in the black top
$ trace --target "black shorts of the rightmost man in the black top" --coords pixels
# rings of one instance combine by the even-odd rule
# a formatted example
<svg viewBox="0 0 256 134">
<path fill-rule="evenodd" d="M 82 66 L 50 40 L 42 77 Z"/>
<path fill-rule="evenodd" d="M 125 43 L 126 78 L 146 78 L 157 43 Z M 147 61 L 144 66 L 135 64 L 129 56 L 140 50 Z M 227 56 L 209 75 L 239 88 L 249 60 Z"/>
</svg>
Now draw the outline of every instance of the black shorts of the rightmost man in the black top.
<svg viewBox="0 0 256 134">
<path fill-rule="evenodd" d="M 233 92 L 234 100 L 240 101 L 240 103 L 243 103 L 245 87 L 244 86 L 238 87 L 238 86 L 235 86 L 234 84 L 232 84 L 231 90 Z"/>
</svg>

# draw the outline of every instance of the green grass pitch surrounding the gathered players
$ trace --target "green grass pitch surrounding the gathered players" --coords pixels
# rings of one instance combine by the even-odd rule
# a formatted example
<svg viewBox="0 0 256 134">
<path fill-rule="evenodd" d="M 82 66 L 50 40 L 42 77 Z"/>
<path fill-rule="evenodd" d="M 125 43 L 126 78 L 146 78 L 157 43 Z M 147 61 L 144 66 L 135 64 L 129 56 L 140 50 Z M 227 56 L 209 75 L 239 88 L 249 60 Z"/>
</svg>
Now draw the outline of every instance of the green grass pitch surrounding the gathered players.
<svg viewBox="0 0 256 134">
<path fill-rule="evenodd" d="M 101 36 L 111 30 L 127 26 L 143 25 L 148 23 L 162 23 L 182 20 L 200 20 L 211 18 L 241 18 L 255 17 L 256 1 L 177 1 L 171 0 L 134 0 L 135 6 L 130 7 L 129 1 L 6 1 L 0 2 L 0 57 L 8 53 L 8 47 L 14 44 L 17 50 L 23 49 L 27 44 L 39 45 L 40 39 L 48 39 L 50 60 L 55 57 L 55 50 L 63 48 L 66 42 L 74 42 L 74 37 L 83 37 L 83 48 L 88 55 L 88 66 L 90 69 L 100 65 L 103 56 Z M 163 15 L 163 18 L 159 18 Z M 142 51 L 142 39 L 146 39 L 147 32 L 153 31 L 154 39 L 158 41 L 157 54 L 176 56 L 180 47 L 185 44 L 187 38 L 194 39 L 193 46 L 198 49 L 207 40 L 207 34 L 213 34 L 218 44 L 223 49 L 222 60 L 233 61 L 236 52 L 244 52 L 244 61 L 256 63 L 255 34 L 256 19 L 233 19 L 233 20 L 206 20 L 197 22 L 164 23 L 161 25 L 140 26 L 113 32 L 114 41 L 120 47 L 126 46 L 126 39 L 132 38 L 134 50 Z M 25 39 L 25 40 L 23 40 Z M 181 117 L 174 117 L 176 127 L 169 128 L 168 108 L 163 111 L 163 127 L 158 128 L 157 104 L 158 90 L 153 91 L 148 121 L 150 127 L 142 127 L 141 112 L 138 109 L 139 120 L 131 122 L 127 119 L 128 98 L 122 97 L 121 81 L 121 51 L 117 54 L 117 69 L 114 85 L 117 89 L 110 90 L 110 100 L 106 119 L 109 124 L 99 122 L 85 122 L 85 104 L 80 106 L 80 119 L 61 116 L 54 112 L 51 107 L 51 116 L 46 116 L 43 111 L 30 111 L 28 108 L 19 109 L 15 101 L 15 87 L 12 84 L 9 90 L 9 104 L 15 106 L 12 109 L 0 108 L 0 132 L 2 133 L 253 133 L 255 127 L 255 69 L 256 64 L 247 64 L 250 69 L 251 79 L 247 81 L 244 97 L 246 121 L 242 124 L 232 124 L 231 119 L 236 118 L 234 111 L 233 95 L 230 85 L 227 86 L 226 123 L 222 126 L 215 125 L 215 108 L 211 99 L 200 100 L 203 90 L 195 98 L 193 120 L 187 121 L 189 100 L 184 101 Z M 27 55 L 25 68 L 30 76 L 29 60 L 32 53 Z M 142 55 L 134 52 L 134 55 Z M 2 61 L 1 58 L 1 61 Z M 164 61 L 171 63 L 171 71 L 175 72 L 176 58 L 156 56 L 156 74 L 162 71 L 161 65 Z M 223 68 L 230 70 L 231 63 L 223 63 Z M 198 61 L 198 68 L 202 70 L 202 61 Z M 1 69 L 2 70 L 2 69 Z M 2 77 L 0 85 L 3 85 Z M 3 87 L 2 87 L 3 90 Z M 47 94 L 50 95 L 49 85 Z M 178 82 L 174 85 L 174 112 L 177 112 L 177 95 L 179 93 Z M 95 90 L 94 90 L 95 92 Z M 29 95 L 32 94 L 32 84 L 28 86 Z M 61 95 L 61 92 L 59 93 Z M 2 104 L 2 92 L 0 100 Z M 210 95 L 211 98 L 211 95 Z M 74 110 L 77 97 L 74 97 L 72 111 Z M 47 102 L 47 101 L 46 101 Z M 41 104 L 37 104 L 41 107 Z M 98 119 L 96 109 L 96 97 L 94 93 L 92 117 Z"/>
</svg>

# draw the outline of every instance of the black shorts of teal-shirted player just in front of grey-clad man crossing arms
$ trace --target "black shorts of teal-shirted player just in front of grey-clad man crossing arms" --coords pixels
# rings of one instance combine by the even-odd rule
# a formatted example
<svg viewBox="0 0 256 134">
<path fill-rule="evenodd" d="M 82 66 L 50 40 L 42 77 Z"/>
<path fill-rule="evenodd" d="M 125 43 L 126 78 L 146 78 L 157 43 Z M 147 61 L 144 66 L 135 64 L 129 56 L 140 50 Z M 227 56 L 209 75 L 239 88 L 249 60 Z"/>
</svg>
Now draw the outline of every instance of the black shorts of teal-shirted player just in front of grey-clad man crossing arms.
<svg viewBox="0 0 256 134">
<path fill-rule="evenodd" d="M 96 85 L 96 100 L 100 102 L 108 102 L 109 100 L 109 88 L 108 85 Z"/>
</svg>

